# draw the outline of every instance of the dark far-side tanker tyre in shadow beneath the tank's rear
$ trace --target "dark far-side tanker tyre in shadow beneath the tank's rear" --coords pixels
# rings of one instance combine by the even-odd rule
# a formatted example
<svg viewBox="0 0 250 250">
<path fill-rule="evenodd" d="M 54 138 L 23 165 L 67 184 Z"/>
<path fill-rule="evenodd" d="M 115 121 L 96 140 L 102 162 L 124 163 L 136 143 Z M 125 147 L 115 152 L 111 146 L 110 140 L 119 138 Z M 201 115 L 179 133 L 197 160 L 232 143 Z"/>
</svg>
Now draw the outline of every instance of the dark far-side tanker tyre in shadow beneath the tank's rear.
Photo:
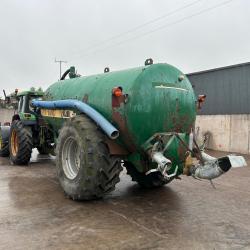
<svg viewBox="0 0 250 250">
<path fill-rule="evenodd" d="M 124 166 L 127 169 L 127 174 L 131 176 L 132 181 L 137 182 L 143 188 L 157 188 L 162 187 L 172 181 L 163 178 L 163 175 L 159 172 L 153 172 L 149 175 L 140 173 L 132 163 L 125 162 Z"/>
</svg>

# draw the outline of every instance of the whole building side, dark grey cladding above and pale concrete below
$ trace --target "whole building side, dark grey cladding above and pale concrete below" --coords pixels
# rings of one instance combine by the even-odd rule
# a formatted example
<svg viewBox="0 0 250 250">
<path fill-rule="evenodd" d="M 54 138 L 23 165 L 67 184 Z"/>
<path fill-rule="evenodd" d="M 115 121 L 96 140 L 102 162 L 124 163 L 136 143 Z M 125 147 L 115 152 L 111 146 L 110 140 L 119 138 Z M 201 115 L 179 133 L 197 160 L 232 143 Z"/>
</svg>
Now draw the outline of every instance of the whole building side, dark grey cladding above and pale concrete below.
<svg viewBox="0 0 250 250">
<path fill-rule="evenodd" d="M 207 96 L 196 126 L 210 134 L 208 148 L 250 154 L 250 63 L 187 76 L 196 95 Z"/>
</svg>

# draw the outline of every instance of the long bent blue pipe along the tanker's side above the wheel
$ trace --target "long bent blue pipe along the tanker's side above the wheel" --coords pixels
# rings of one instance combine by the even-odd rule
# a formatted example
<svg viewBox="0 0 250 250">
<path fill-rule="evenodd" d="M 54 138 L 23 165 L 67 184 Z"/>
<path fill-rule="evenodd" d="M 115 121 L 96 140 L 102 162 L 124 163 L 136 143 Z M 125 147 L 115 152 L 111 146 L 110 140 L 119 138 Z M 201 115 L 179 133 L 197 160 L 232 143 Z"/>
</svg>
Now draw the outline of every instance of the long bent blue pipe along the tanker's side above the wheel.
<svg viewBox="0 0 250 250">
<path fill-rule="evenodd" d="M 119 131 L 103 115 L 81 101 L 72 99 L 57 101 L 33 100 L 32 105 L 45 109 L 77 109 L 95 121 L 111 139 L 116 139 L 119 136 Z"/>
</svg>

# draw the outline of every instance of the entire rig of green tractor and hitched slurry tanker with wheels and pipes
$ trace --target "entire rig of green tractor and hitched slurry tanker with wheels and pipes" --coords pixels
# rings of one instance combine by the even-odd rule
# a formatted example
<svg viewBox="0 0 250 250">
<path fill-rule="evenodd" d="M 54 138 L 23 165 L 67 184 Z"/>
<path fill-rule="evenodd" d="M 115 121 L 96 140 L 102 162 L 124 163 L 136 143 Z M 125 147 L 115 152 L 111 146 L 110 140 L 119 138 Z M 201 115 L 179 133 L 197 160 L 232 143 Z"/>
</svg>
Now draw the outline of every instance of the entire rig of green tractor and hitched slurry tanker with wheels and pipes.
<svg viewBox="0 0 250 250">
<path fill-rule="evenodd" d="M 69 75 L 69 79 L 65 79 Z M 0 154 L 27 164 L 33 148 L 55 153 L 59 182 L 74 200 L 104 196 L 122 167 L 139 185 L 160 187 L 185 174 L 212 180 L 241 156 L 214 158 L 194 135 L 197 107 L 188 78 L 169 64 L 83 76 L 75 68 L 45 93 L 17 94 L 11 126 L 1 127 Z"/>
</svg>

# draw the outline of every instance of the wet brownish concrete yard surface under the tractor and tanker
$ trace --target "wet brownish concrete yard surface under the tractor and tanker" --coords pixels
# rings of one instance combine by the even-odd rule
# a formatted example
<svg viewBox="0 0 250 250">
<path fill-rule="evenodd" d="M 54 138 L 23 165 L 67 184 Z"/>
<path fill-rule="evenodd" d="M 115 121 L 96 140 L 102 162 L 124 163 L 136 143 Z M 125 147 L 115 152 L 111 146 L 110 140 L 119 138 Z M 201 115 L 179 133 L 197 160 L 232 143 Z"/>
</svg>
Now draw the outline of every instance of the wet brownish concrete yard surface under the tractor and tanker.
<svg viewBox="0 0 250 250">
<path fill-rule="evenodd" d="M 250 249 L 249 166 L 216 189 L 183 176 L 145 190 L 124 170 L 113 193 L 76 202 L 49 156 L 22 167 L 0 157 L 0 249 Z"/>
</svg>

